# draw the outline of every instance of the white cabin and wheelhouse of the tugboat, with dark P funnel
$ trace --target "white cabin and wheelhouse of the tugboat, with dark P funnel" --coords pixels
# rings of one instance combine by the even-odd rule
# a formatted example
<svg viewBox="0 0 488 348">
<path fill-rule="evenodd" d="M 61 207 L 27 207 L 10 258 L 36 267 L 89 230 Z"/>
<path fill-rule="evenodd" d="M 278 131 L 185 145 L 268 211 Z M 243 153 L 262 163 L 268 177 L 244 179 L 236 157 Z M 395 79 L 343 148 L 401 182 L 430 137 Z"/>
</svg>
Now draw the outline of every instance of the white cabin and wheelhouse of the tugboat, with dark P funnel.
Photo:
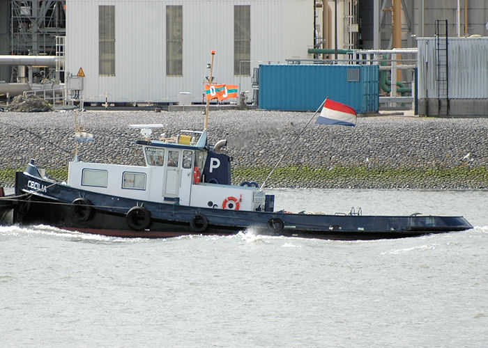
<svg viewBox="0 0 488 348">
<path fill-rule="evenodd" d="M 230 158 L 220 145 L 209 147 L 206 131 L 181 131 L 149 140 L 142 129 L 144 166 L 71 161 L 68 185 L 114 197 L 217 209 L 264 210 L 265 195 L 254 187 L 231 184 Z M 190 134 L 190 135 L 188 135 Z M 212 150 L 210 150 L 210 148 Z"/>
</svg>

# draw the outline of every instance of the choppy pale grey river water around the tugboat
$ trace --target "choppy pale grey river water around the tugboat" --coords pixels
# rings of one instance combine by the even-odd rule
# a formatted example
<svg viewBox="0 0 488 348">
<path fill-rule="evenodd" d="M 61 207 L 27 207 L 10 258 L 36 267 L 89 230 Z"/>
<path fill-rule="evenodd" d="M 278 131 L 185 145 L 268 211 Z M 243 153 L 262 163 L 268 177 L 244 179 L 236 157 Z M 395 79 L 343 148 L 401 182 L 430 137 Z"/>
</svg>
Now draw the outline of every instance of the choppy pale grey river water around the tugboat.
<svg viewBox="0 0 488 348">
<path fill-rule="evenodd" d="M 475 227 L 368 242 L 0 227 L 2 347 L 487 346 L 488 191 L 271 193 L 275 209 Z"/>
</svg>

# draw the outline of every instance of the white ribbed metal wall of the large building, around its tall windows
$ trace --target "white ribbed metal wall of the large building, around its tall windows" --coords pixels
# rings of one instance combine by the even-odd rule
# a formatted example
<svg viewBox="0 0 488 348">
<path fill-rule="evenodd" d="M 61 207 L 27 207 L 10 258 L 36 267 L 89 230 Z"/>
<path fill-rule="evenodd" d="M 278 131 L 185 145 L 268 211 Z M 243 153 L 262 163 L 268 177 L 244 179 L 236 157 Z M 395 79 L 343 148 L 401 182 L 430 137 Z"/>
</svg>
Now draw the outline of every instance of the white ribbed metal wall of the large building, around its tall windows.
<svg viewBox="0 0 488 348">
<path fill-rule="evenodd" d="M 115 6 L 115 77 L 98 76 L 100 5 Z M 183 77 L 166 76 L 167 5 L 183 5 Z M 251 68 L 309 58 L 313 0 L 67 0 L 66 70 L 83 68 L 86 102 L 201 102 L 215 49 L 217 81 L 251 90 L 251 77 L 234 76 L 234 5 L 251 6 Z"/>
</svg>

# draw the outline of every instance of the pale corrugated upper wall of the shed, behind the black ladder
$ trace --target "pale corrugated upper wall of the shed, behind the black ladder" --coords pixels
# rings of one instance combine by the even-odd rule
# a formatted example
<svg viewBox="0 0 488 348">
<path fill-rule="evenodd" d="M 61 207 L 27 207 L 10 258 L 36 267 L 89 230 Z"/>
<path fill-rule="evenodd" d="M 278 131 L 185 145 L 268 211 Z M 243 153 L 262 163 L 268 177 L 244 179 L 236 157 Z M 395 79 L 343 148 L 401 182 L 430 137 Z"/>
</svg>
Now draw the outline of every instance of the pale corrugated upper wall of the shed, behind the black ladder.
<svg viewBox="0 0 488 348">
<path fill-rule="evenodd" d="M 418 39 L 418 97 L 437 98 L 434 38 Z M 488 37 L 448 38 L 450 99 L 488 98 Z"/>
</svg>

